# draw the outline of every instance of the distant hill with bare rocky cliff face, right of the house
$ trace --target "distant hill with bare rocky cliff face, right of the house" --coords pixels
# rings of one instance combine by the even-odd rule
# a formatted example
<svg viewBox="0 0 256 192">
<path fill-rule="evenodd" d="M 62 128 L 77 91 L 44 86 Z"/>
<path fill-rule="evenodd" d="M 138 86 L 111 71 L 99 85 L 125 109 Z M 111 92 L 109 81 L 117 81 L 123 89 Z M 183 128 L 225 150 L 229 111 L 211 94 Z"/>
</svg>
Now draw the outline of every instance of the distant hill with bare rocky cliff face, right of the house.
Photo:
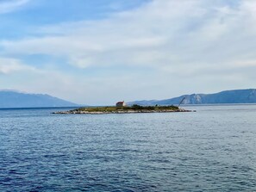
<svg viewBox="0 0 256 192">
<path fill-rule="evenodd" d="M 256 103 L 256 90 L 225 90 L 215 94 L 191 94 L 165 100 L 128 102 L 128 105 L 173 105 L 181 102 L 183 98 L 183 104 Z"/>
</svg>

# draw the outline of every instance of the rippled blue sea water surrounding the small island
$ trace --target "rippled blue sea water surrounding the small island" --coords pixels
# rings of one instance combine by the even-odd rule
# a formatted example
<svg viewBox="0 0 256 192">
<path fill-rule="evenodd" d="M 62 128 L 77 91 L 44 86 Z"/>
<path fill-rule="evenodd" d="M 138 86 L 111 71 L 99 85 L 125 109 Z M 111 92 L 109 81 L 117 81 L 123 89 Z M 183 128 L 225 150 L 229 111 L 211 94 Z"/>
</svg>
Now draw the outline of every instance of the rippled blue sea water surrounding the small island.
<svg viewBox="0 0 256 192">
<path fill-rule="evenodd" d="M 256 106 L 0 110 L 0 191 L 256 191 Z"/>
</svg>

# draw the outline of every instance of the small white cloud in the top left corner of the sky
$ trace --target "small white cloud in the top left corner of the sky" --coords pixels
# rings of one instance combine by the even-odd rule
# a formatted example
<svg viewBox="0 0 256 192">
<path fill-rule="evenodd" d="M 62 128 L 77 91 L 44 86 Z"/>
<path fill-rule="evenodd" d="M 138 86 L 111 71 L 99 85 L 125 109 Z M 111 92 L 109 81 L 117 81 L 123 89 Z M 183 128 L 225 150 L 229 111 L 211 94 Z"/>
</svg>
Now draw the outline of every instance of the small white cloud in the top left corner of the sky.
<svg viewBox="0 0 256 192">
<path fill-rule="evenodd" d="M 0 1 L 0 14 L 9 13 L 19 9 L 30 0 L 2 0 Z"/>
</svg>

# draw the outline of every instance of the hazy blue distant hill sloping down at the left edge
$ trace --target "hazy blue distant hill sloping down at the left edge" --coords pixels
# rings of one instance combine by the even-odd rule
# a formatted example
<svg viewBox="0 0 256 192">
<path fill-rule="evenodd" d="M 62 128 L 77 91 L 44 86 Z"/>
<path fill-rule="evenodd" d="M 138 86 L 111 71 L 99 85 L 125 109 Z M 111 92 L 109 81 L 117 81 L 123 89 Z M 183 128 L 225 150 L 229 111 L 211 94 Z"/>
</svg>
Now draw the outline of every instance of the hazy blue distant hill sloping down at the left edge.
<svg viewBox="0 0 256 192">
<path fill-rule="evenodd" d="M 78 104 L 43 94 L 0 90 L 0 108 L 75 107 Z"/>
</svg>

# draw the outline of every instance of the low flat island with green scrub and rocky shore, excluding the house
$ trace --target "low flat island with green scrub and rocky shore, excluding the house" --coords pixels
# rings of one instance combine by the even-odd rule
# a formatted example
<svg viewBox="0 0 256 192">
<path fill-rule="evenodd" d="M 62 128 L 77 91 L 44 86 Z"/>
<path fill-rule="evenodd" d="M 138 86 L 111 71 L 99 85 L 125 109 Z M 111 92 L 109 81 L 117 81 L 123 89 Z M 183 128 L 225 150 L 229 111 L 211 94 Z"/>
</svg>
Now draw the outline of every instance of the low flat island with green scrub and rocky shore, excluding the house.
<svg viewBox="0 0 256 192">
<path fill-rule="evenodd" d="M 195 112 L 194 110 L 185 110 L 177 106 L 106 106 L 106 107 L 86 107 L 76 108 L 69 111 L 58 111 L 53 114 L 89 114 L 89 115 L 102 115 L 102 114 L 136 114 L 136 113 L 171 113 L 171 112 Z"/>
</svg>

